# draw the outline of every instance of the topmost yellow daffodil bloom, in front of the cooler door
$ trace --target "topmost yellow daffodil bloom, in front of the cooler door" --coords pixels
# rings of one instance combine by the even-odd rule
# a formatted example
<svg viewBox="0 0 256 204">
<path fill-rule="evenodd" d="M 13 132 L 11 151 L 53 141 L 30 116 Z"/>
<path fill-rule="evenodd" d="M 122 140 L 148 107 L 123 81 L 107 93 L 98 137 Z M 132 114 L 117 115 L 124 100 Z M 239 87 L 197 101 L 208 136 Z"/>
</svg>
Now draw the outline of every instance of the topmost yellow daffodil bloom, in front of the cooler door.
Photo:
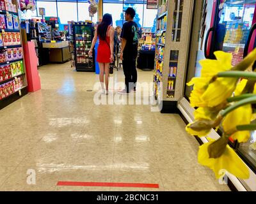
<svg viewBox="0 0 256 204">
<path fill-rule="evenodd" d="M 232 54 L 216 51 L 216 59 L 203 59 L 199 63 L 202 66 L 201 77 L 210 77 L 217 75 L 221 71 L 228 71 L 232 68 Z"/>
</svg>

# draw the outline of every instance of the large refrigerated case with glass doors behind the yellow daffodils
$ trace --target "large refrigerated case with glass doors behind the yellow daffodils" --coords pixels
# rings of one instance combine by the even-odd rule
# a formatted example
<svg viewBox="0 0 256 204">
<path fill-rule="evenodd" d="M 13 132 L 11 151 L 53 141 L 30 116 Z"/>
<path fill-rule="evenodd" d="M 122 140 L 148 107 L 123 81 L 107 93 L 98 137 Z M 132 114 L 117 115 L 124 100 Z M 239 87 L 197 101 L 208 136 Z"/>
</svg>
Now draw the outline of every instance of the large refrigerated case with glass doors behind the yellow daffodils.
<svg viewBox="0 0 256 204">
<path fill-rule="evenodd" d="M 256 47 L 256 0 L 205 0 L 196 1 L 195 4 L 186 82 L 193 77 L 200 77 L 202 67 L 199 61 L 205 58 L 215 59 L 215 51 L 232 53 L 234 66 Z M 193 87 L 187 87 L 185 83 L 184 89 L 185 96 L 179 100 L 178 108 L 192 122 L 195 108 L 189 105 L 189 96 Z M 212 130 L 210 136 L 218 139 L 221 128 L 218 133 Z M 207 141 L 207 138 L 200 139 L 203 143 Z M 255 131 L 247 143 L 230 141 L 230 146 L 250 167 L 250 179 L 239 182 L 247 190 L 256 191 Z"/>
</svg>

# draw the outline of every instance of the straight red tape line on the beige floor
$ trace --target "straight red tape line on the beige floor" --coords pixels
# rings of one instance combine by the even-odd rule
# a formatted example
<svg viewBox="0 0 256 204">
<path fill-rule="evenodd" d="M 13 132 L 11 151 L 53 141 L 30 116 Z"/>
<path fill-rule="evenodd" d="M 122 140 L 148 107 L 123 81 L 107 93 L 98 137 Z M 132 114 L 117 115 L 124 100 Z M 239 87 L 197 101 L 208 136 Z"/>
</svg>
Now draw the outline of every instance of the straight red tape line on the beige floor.
<svg viewBox="0 0 256 204">
<path fill-rule="evenodd" d="M 108 183 L 108 182 L 59 181 L 57 186 L 148 187 L 148 188 L 159 189 L 159 184 Z"/>
</svg>

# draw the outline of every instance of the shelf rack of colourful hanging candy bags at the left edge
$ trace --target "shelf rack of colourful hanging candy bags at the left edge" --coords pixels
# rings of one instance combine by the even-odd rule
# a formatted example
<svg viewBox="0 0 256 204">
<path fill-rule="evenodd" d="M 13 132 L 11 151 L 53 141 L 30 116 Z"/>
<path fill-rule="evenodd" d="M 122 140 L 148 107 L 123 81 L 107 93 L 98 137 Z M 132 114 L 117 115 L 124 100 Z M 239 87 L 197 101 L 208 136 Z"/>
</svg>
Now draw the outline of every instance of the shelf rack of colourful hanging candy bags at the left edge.
<svg viewBox="0 0 256 204">
<path fill-rule="evenodd" d="M 19 1 L 1 1 L 0 109 L 28 93 L 18 8 Z"/>
</svg>

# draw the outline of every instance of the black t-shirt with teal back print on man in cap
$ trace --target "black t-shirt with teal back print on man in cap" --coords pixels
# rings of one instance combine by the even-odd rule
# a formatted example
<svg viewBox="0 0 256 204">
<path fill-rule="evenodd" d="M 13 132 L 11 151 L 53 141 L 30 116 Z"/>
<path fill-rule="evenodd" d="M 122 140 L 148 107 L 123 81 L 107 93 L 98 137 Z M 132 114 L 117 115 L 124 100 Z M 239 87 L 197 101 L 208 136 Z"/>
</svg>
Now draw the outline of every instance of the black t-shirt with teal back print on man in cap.
<svg viewBox="0 0 256 204">
<path fill-rule="evenodd" d="M 125 22 L 122 28 L 121 38 L 127 40 L 124 48 L 124 59 L 136 59 L 138 54 L 139 28 L 136 22 Z"/>
</svg>

